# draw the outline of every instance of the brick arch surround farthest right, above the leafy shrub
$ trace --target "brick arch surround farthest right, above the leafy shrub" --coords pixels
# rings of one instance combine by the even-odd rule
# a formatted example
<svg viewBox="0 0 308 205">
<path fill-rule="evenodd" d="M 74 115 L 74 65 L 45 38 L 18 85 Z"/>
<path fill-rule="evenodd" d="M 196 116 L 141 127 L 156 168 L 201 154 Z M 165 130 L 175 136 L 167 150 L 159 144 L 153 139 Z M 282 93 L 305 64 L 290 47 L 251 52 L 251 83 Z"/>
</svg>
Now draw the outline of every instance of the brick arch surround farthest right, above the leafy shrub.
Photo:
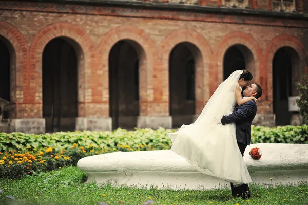
<svg viewBox="0 0 308 205">
<path fill-rule="evenodd" d="M 291 47 L 293 48 L 300 59 L 300 71 L 302 73 L 308 73 L 308 59 L 303 44 L 294 36 L 283 34 L 276 36 L 269 42 L 265 53 L 264 53 L 264 69 L 262 72 L 266 74 L 267 80 L 264 81 L 266 87 L 265 96 L 269 101 L 273 101 L 273 92 L 272 92 L 272 83 L 273 83 L 273 59 L 275 53 L 282 47 Z"/>
</svg>

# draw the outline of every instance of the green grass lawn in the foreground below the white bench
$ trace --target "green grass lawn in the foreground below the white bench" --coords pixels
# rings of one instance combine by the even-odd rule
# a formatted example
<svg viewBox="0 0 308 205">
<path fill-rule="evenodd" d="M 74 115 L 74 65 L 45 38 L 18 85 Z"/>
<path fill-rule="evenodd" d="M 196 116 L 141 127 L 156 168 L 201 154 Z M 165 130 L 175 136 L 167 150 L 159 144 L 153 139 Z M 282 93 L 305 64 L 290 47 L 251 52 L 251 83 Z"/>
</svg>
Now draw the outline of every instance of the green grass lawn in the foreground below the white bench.
<svg viewBox="0 0 308 205">
<path fill-rule="evenodd" d="M 68 167 L 21 180 L 1 179 L 0 204 L 15 197 L 14 204 L 143 204 L 151 199 L 155 204 L 308 204 L 308 184 L 263 188 L 252 184 L 252 198 L 230 197 L 229 189 L 187 190 L 114 188 L 110 185 L 84 184 L 85 173 Z M 258 196 L 257 196 L 258 194 Z M 285 200 L 284 200 L 285 199 Z M 121 203 L 122 201 L 122 203 Z M 210 203 L 213 202 L 213 203 Z"/>
</svg>

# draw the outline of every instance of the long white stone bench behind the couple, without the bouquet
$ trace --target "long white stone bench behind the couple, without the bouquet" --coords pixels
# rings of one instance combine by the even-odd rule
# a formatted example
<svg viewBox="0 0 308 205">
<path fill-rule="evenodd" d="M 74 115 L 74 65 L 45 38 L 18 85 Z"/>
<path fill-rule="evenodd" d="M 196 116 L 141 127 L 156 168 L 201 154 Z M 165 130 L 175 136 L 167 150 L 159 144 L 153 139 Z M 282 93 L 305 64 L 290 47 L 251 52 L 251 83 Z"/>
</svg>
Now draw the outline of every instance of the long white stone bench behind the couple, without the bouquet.
<svg viewBox="0 0 308 205">
<path fill-rule="evenodd" d="M 260 160 L 253 160 L 248 154 L 254 147 L 262 150 Z M 308 181 L 308 144 L 251 144 L 246 148 L 244 161 L 253 183 L 275 185 Z M 228 182 L 199 173 L 170 150 L 94 155 L 80 159 L 77 165 L 87 173 L 87 182 L 170 189 L 229 187 Z"/>
</svg>

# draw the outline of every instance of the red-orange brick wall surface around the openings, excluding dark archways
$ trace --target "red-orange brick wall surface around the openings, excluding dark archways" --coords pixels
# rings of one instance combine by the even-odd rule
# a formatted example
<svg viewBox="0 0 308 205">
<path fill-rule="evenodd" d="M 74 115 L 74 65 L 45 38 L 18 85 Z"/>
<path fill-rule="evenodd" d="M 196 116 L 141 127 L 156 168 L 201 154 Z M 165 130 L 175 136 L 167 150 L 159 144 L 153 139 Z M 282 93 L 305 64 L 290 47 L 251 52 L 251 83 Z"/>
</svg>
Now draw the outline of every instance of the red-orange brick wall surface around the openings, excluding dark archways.
<svg viewBox="0 0 308 205">
<path fill-rule="evenodd" d="M 208 4 L 215 2 L 220 4 Z M 261 16 L 0 3 L 0 36 L 12 45 L 10 52 L 16 61 L 11 72 L 13 118 L 42 118 L 42 53 L 46 44 L 57 37 L 66 37 L 78 47 L 79 117 L 109 116 L 109 52 L 114 44 L 126 39 L 139 46 L 142 60 L 141 116 L 169 115 L 169 54 L 182 42 L 192 45 L 196 58 L 196 114 L 223 80 L 224 53 L 238 44 L 253 54 L 249 66 L 254 81 L 263 88 L 258 113 L 273 113 L 275 52 L 283 46 L 293 48 L 300 59 L 298 72 L 308 73 L 307 29 L 304 20 Z"/>
</svg>

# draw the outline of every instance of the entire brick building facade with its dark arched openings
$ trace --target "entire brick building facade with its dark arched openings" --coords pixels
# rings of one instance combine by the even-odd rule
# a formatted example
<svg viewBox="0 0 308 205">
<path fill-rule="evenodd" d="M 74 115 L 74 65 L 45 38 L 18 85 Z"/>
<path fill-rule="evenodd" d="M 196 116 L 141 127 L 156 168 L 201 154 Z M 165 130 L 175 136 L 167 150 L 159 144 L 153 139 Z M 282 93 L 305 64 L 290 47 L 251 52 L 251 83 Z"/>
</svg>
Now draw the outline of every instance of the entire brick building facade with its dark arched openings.
<svg viewBox="0 0 308 205">
<path fill-rule="evenodd" d="M 2 1 L 5 132 L 191 123 L 232 71 L 263 88 L 254 124 L 301 124 L 303 0 Z"/>
</svg>

